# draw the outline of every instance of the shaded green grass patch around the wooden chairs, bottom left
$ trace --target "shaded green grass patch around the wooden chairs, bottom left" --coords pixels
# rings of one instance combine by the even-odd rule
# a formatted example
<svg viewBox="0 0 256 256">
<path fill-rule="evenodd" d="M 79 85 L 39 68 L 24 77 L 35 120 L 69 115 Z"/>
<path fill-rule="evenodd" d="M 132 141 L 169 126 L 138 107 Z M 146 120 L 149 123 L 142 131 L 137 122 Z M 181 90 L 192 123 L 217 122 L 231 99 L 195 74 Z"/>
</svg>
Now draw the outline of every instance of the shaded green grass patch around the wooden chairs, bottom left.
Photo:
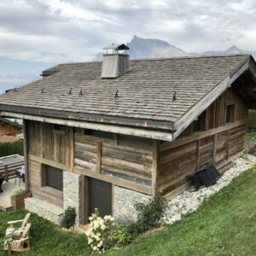
<svg viewBox="0 0 256 256">
<path fill-rule="evenodd" d="M 0 241 L 3 239 L 7 228 L 7 221 L 24 218 L 26 211 L 0 212 Z M 54 224 L 44 218 L 32 214 L 31 241 L 32 249 L 24 253 L 33 256 L 65 256 L 65 255 L 90 255 L 87 241 L 84 235 L 74 235 L 59 230 Z M 3 244 L 3 242 L 1 242 Z M 2 247 L 1 244 L 1 247 Z M 15 254 L 15 253 L 14 253 Z M 0 250 L 0 255 L 7 253 Z M 17 253 L 16 255 L 23 255 Z"/>
</svg>

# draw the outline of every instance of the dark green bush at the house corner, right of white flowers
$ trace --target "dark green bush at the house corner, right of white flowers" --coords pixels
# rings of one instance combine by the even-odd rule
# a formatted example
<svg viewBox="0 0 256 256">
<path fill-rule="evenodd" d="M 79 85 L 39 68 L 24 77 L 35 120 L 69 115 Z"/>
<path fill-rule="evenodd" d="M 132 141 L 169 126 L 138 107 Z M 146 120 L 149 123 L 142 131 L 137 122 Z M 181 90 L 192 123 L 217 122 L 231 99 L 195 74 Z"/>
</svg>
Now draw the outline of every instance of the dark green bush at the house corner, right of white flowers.
<svg viewBox="0 0 256 256">
<path fill-rule="evenodd" d="M 128 227 L 132 236 L 138 236 L 159 224 L 160 218 L 166 210 L 167 201 L 162 195 L 157 194 L 148 203 L 137 203 L 135 207 L 137 222 L 130 224 Z"/>
</svg>

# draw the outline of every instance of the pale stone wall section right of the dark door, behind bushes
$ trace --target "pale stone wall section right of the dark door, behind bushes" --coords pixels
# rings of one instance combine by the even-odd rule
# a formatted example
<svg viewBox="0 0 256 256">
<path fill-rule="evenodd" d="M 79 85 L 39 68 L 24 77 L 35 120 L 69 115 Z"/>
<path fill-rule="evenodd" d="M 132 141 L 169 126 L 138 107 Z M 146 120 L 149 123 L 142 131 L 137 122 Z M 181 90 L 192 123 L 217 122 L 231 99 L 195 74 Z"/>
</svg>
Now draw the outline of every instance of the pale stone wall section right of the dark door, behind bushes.
<svg viewBox="0 0 256 256">
<path fill-rule="evenodd" d="M 113 217 L 126 223 L 137 219 L 135 204 L 147 202 L 152 197 L 143 193 L 113 186 Z"/>
</svg>

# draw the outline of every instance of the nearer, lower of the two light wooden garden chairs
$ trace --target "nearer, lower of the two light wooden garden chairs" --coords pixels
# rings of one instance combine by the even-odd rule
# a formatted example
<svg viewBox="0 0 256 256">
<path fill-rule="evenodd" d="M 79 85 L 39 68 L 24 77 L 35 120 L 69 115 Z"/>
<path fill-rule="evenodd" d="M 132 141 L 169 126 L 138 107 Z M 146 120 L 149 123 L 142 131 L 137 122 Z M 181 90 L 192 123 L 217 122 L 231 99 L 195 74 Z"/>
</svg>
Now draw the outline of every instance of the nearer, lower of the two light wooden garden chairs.
<svg viewBox="0 0 256 256">
<path fill-rule="evenodd" d="M 14 239 L 12 237 L 6 239 L 3 244 L 3 250 L 8 251 L 11 255 L 12 252 L 25 252 L 30 249 L 30 231 L 31 224 L 26 224 L 19 239 Z"/>
</svg>

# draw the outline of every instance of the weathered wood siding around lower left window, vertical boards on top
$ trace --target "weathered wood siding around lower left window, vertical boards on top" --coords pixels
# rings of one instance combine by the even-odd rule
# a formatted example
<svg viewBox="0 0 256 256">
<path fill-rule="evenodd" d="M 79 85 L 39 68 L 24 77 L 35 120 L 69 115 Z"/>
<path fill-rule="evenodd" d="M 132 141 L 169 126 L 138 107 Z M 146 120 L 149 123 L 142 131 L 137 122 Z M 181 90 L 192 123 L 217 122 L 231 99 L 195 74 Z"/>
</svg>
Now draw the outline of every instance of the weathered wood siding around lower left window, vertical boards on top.
<svg viewBox="0 0 256 256">
<path fill-rule="evenodd" d="M 73 168 L 73 128 L 64 126 L 55 131 L 54 125 L 27 121 L 29 187 L 33 195 L 62 206 L 62 193 L 42 186 L 42 165 L 61 170 Z"/>
</svg>

